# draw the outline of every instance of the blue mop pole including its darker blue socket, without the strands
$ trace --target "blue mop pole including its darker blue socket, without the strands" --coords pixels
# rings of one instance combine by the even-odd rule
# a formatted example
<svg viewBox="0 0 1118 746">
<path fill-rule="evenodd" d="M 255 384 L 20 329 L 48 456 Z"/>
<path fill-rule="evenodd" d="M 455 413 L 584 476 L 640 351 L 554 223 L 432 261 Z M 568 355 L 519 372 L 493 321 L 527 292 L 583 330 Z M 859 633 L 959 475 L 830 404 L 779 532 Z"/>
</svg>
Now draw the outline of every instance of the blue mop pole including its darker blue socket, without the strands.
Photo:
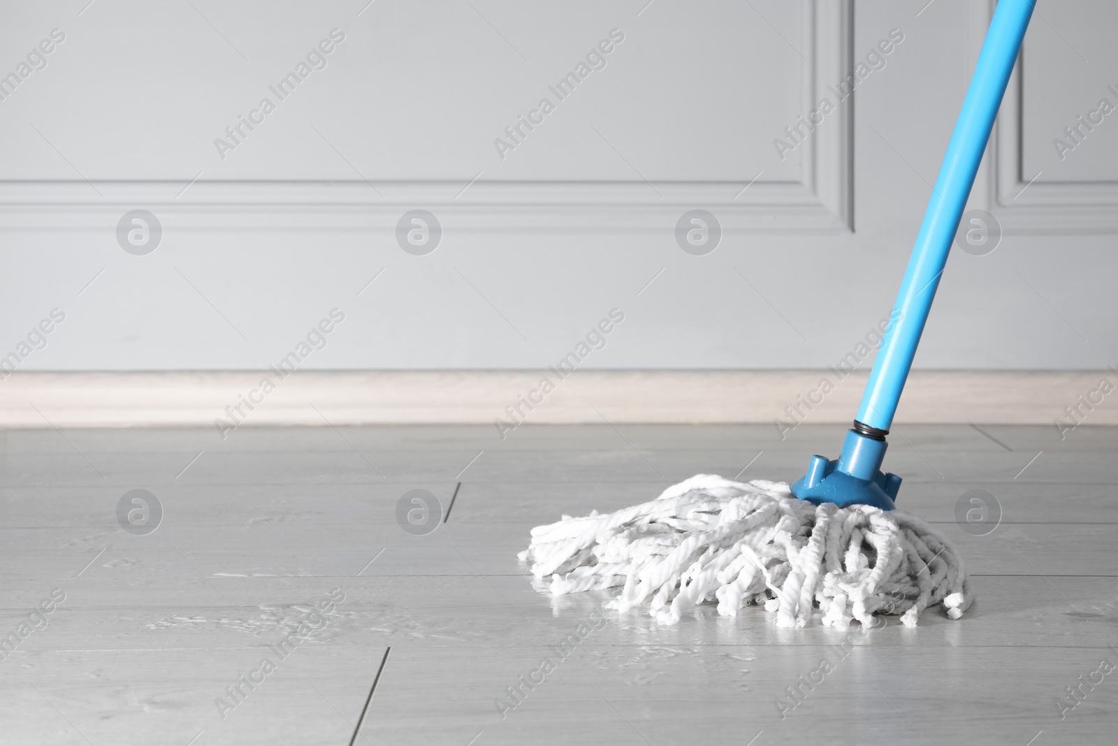
<svg viewBox="0 0 1118 746">
<path fill-rule="evenodd" d="M 947 254 L 958 230 L 963 208 L 970 195 L 1034 4 L 1035 0 L 999 0 L 994 10 L 970 87 L 897 293 L 891 315 L 893 321 L 881 340 L 854 427 L 846 434 L 842 455 L 836 462 L 828 462 L 823 456 L 812 457 L 807 474 L 793 484 L 797 497 L 813 502 L 863 502 L 883 509 L 893 507 L 900 478 L 880 471 L 885 452 L 884 438 L 893 423 L 917 344 L 928 321 L 931 301 L 947 264 Z M 828 487 L 826 483 L 832 475 L 834 480 Z M 844 476 L 853 478 L 854 482 Z M 879 489 L 873 489 L 874 485 Z"/>
</svg>

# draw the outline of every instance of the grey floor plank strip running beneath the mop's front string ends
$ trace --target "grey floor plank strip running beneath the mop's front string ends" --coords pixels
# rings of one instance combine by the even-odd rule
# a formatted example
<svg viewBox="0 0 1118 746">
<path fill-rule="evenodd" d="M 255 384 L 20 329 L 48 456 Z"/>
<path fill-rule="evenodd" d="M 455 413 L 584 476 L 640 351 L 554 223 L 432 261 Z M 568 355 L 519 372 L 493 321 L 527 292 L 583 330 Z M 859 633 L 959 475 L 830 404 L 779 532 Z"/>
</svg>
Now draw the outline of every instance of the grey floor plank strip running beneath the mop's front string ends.
<svg viewBox="0 0 1118 746">
<path fill-rule="evenodd" d="M 894 625 L 874 644 L 918 648 L 1089 646 L 1115 642 L 1118 578 L 975 576 L 977 601 L 961 621 L 929 610 L 916 629 Z M 341 588 L 344 602 L 314 635 L 313 646 L 533 645 L 563 636 L 569 620 L 600 611 L 616 592 L 552 596 L 523 576 L 362 576 L 108 578 L 0 584 L 0 629 L 20 618 L 55 587 L 66 599 L 46 629 L 12 660 L 42 650 L 238 649 L 290 634 L 316 598 Z M 136 599 L 143 604 L 138 605 Z M 595 636 L 612 645 L 827 644 L 819 624 L 781 630 L 774 614 L 749 606 L 737 617 L 698 607 L 686 623 L 657 624 L 645 611 L 605 612 Z"/>
</svg>

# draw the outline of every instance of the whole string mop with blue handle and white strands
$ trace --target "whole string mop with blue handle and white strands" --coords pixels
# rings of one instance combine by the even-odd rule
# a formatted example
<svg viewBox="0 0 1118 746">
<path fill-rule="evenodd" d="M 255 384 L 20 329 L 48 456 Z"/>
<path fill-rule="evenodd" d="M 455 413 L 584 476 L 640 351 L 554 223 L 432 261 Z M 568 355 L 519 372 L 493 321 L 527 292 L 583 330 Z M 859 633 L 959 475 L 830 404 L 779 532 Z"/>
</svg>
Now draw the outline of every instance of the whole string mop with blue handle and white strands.
<svg viewBox="0 0 1118 746">
<path fill-rule="evenodd" d="M 718 604 L 747 604 L 806 626 L 818 608 L 827 626 L 899 615 L 915 626 L 941 605 L 959 618 L 974 602 L 963 558 L 936 528 L 894 509 L 901 478 L 883 473 L 885 436 L 978 163 L 989 140 L 1034 0 L 999 0 L 928 201 L 853 427 L 839 459 L 812 456 L 807 473 L 783 482 L 735 482 L 699 474 L 652 500 L 532 529 L 519 557 L 557 595 L 620 588 L 608 606 L 648 604 L 660 623 Z"/>
</svg>

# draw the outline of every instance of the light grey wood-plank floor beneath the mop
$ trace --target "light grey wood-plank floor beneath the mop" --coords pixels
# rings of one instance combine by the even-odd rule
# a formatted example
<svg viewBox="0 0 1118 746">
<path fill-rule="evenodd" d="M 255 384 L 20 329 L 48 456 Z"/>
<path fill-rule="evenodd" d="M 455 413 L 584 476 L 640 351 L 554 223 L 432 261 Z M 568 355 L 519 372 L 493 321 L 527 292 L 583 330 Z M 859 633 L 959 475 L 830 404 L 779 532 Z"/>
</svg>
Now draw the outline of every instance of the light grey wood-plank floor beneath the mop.
<svg viewBox="0 0 1118 746">
<path fill-rule="evenodd" d="M 758 607 L 701 607 L 663 627 L 638 612 L 599 617 L 608 594 L 539 593 L 515 558 L 533 526 L 695 473 L 795 479 L 812 453 L 835 455 L 843 431 L 4 433 L 0 742 L 1115 743 L 1118 669 L 1099 671 L 1118 665 L 1118 428 L 1064 441 L 1055 427 L 894 431 L 899 504 L 947 532 L 974 575 L 978 601 L 960 621 L 932 610 L 912 630 L 780 630 Z M 134 489 L 163 510 L 144 536 L 117 522 Z M 413 489 L 451 508 L 425 536 L 397 522 Z M 984 536 L 956 522 L 973 489 L 1001 506 Z M 65 598 L 34 614 L 51 593 Z M 330 593 L 343 598 L 318 615 Z M 276 654 L 301 625 L 316 629 Z M 543 681 L 521 684 L 543 659 Z"/>
</svg>

